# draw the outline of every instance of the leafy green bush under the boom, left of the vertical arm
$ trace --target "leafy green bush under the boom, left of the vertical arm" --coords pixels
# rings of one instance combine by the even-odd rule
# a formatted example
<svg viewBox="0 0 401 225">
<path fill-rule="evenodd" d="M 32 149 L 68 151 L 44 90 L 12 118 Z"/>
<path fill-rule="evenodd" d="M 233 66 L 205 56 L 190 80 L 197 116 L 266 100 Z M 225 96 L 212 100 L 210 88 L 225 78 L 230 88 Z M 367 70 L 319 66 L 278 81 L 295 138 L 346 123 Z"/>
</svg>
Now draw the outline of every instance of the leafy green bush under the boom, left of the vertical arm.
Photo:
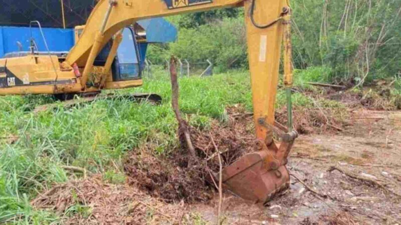
<svg viewBox="0 0 401 225">
<path fill-rule="evenodd" d="M 191 63 L 210 59 L 217 72 L 247 66 L 244 18 L 224 18 L 196 28 L 180 28 L 170 51 Z"/>
</svg>

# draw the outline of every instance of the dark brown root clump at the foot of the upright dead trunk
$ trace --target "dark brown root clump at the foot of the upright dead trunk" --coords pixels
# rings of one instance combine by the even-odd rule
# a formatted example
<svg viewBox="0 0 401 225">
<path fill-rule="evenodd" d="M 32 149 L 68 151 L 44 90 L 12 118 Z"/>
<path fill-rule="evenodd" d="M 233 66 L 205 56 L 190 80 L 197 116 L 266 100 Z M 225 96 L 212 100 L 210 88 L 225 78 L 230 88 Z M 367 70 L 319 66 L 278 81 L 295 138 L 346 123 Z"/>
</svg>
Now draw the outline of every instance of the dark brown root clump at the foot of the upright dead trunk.
<svg viewBox="0 0 401 225">
<path fill-rule="evenodd" d="M 187 153 L 177 151 L 170 157 L 154 156 L 149 149 L 133 151 L 124 165 L 129 183 L 166 202 L 209 200 L 212 188 L 203 168 L 188 168 Z"/>
</svg>

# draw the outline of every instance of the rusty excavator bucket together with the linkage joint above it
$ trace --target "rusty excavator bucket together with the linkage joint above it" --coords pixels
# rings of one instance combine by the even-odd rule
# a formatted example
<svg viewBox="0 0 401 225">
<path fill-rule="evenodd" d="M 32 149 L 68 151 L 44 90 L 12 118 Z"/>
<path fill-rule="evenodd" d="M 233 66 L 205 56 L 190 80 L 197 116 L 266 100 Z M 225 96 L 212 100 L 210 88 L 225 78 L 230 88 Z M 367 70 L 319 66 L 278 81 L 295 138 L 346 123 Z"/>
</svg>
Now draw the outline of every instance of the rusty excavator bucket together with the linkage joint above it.
<svg viewBox="0 0 401 225">
<path fill-rule="evenodd" d="M 275 133 L 281 139 L 279 146 L 273 138 L 270 141 L 257 139 L 255 152 L 240 157 L 222 171 L 222 181 L 226 188 L 244 199 L 263 204 L 289 187 L 287 157 L 298 137 L 296 131 L 288 132 L 278 122 L 274 126 L 268 126 L 270 134 Z"/>
</svg>

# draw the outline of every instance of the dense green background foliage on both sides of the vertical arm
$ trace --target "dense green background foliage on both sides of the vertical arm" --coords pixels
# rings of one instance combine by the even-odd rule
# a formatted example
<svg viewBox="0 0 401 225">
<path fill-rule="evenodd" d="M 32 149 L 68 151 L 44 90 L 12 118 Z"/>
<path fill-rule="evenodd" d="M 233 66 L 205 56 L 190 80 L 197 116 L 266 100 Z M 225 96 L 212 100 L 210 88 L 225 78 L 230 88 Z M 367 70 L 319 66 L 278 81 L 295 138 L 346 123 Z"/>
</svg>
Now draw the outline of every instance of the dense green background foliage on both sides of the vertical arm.
<svg viewBox="0 0 401 225">
<path fill-rule="evenodd" d="M 326 81 L 361 85 L 399 77 L 401 1 L 293 0 L 293 54 L 296 68 L 324 66 Z M 170 17 L 174 43 L 150 47 L 162 62 L 171 54 L 195 63 L 210 59 L 219 71 L 247 66 L 244 9 L 222 9 Z"/>
</svg>

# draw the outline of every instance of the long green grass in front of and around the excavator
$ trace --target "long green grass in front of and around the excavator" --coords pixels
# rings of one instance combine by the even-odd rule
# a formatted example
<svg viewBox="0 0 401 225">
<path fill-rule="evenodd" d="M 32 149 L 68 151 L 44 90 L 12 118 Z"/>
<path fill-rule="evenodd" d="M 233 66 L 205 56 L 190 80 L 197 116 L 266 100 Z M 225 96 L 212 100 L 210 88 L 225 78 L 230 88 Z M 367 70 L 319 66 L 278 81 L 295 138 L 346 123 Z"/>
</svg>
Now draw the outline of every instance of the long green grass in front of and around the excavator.
<svg viewBox="0 0 401 225">
<path fill-rule="evenodd" d="M 252 110 L 247 71 L 183 77 L 179 85 L 180 108 L 198 128 L 208 129 L 212 119 L 225 121 L 228 105 L 242 103 Z M 55 183 L 81 175 L 71 174 L 63 165 L 101 172 L 103 179 L 121 183 L 125 177 L 116 171 L 116 165 L 123 167 L 129 150 L 152 142 L 155 154 L 168 154 L 178 144 L 170 91 L 169 77 L 159 71 L 152 79 L 145 78 L 141 87 L 111 91 L 158 93 L 163 101 L 157 106 L 123 98 L 101 99 L 35 114 L 35 106 L 54 100 L 45 95 L 0 97 L 0 222 L 58 221 L 53 212 L 35 210 L 29 202 Z M 277 106 L 284 104 L 285 94 L 280 90 Z M 300 93 L 294 94 L 294 104 L 314 107 L 312 100 Z M 11 142 L 10 136 L 17 140 Z M 75 205 L 70 211 L 85 214 L 87 210 Z"/>
</svg>

